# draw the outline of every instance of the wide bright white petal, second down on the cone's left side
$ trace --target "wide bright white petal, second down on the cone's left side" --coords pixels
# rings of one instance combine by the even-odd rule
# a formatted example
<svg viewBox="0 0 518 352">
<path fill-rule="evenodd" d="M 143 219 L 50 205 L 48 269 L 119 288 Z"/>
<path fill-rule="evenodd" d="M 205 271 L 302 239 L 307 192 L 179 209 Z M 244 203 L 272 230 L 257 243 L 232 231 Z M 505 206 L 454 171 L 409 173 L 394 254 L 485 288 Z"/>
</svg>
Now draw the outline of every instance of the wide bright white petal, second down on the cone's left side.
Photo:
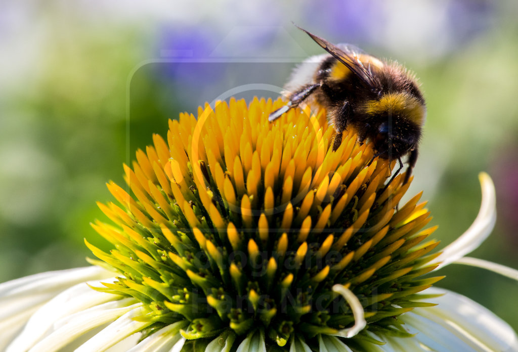
<svg viewBox="0 0 518 352">
<path fill-rule="evenodd" d="M 113 279 L 110 279 L 113 281 Z M 90 282 L 100 286 L 99 282 Z M 93 290 L 87 283 L 77 284 L 61 292 L 41 306 L 28 319 L 23 331 L 9 345 L 7 351 L 25 351 L 34 346 L 45 334 L 55 329 L 56 322 L 90 307 L 121 299 L 122 296 Z"/>
</svg>

